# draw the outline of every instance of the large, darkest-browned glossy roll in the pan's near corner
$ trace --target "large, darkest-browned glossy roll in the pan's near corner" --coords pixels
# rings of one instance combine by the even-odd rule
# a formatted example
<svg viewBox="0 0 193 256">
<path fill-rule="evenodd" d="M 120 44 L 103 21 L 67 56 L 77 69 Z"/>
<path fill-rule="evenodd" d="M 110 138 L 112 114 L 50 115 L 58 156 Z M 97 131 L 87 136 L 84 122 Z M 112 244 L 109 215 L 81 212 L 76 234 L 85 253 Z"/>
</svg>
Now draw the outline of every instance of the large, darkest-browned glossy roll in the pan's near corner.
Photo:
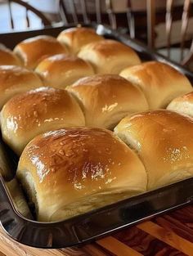
<svg viewBox="0 0 193 256">
<path fill-rule="evenodd" d="M 67 128 L 35 137 L 17 177 L 38 221 L 58 221 L 146 191 L 146 170 L 113 132 Z"/>
</svg>

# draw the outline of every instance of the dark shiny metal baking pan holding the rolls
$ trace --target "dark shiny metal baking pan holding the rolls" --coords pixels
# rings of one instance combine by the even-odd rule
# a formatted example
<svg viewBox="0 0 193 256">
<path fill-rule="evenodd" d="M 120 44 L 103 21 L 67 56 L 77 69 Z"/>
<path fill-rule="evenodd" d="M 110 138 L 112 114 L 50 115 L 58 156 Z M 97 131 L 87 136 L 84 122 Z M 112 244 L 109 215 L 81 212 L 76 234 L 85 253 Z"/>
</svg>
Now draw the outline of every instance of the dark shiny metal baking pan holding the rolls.
<svg viewBox="0 0 193 256">
<path fill-rule="evenodd" d="M 0 42 L 7 47 L 14 47 L 16 43 L 38 34 L 51 34 L 56 36 L 63 29 L 70 26 L 57 26 L 52 29 L 25 31 L 13 34 L 1 34 Z M 88 25 L 87 25 L 88 26 Z M 128 38 L 127 35 L 109 29 L 103 25 L 89 25 L 96 29 L 98 34 L 105 38 L 114 38 L 131 46 L 144 61 L 157 60 L 173 65 L 177 70 L 191 80 L 193 74 L 164 56 L 151 51 L 143 44 Z M 8 43 L 7 43 L 8 42 Z M 7 146 L 2 145 L 10 161 L 16 159 Z M 16 164 L 15 164 L 16 167 Z M 1 168 L 1 166 L 0 166 Z M 193 177 L 182 182 L 149 191 L 141 195 L 133 196 L 130 199 L 110 204 L 101 209 L 92 210 L 74 218 L 61 222 L 36 222 L 33 219 L 25 218 L 15 208 L 7 186 L 0 176 L 0 222 L 4 231 L 14 240 L 38 248 L 64 248 L 73 245 L 82 245 L 109 235 L 124 227 L 130 227 L 137 222 L 155 217 L 158 214 L 168 212 L 172 209 L 190 204 L 193 201 Z"/>
</svg>

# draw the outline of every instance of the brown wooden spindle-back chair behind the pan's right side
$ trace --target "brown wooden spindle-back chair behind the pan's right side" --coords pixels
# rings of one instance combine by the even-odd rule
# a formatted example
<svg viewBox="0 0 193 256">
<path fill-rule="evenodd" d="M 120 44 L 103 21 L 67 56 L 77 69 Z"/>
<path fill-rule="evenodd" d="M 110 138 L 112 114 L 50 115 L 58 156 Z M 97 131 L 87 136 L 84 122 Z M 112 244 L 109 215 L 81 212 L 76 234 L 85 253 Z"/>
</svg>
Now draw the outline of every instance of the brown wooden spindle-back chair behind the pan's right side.
<svg viewBox="0 0 193 256">
<path fill-rule="evenodd" d="M 167 48 L 166 52 L 168 53 L 169 58 L 171 57 L 171 52 L 173 52 L 171 47 L 173 45 L 171 40 L 173 20 L 182 20 L 181 43 L 179 49 L 181 54 L 181 64 L 188 65 L 191 62 L 193 55 L 193 41 L 188 54 L 185 56 L 186 32 L 191 11 L 191 0 L 184 0 L 182 16 L 180 14 L 182 7 L 175 7 L 175 4 L 179 1 L 144 0 L 143 2 L 134 2 L 134 0 L 122 0 L 122 2 L 125 3 L 125 8 L 122 13 L 117 13 L 114 10 L 114 2 L 114 0 L 60 0 L 59 5 L 61 17 L 65 24 L 71 22 L 75 24 L 79 22 L 89 24 L 91 21 L 96 21 L 97 23 L 109 24 L 112 29 L 119 29 L 119 27 L 121 27 L 119 31 L 128 33 L 131 38 L 139 38 L 140 40 L 147 42 L 150 48 L 156 47 L 156 28 L 159 22 L 165 23 L 165 33 L 167 38 L 165 47 Z M 121 2 L 121 0 L 119 0 L 119 2 Z M 142 6 L 141 11 L 136 10 L 134 7 L 136 4 L 139 5 L 139 2 Z M 177 13 L 175 13 L 175 16 L 177 17 L 174 19 L 173 12 L 176 8 Z M 190 38 L 189 41 L 191 41 Z"/>
</svg>

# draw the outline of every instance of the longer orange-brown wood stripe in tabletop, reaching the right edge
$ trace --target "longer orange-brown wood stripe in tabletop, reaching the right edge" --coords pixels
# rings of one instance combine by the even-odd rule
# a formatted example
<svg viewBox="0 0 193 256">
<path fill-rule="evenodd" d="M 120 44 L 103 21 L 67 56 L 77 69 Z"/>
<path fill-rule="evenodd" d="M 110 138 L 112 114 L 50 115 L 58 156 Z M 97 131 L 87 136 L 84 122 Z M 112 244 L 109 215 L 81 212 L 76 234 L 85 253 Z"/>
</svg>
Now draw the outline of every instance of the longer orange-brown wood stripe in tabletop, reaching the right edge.
<svg viewBox="0 0 193 256">
<path fill-rule="evenodd" d="M 151 236 L 155 236 L 159 240 L 163 240 L 166 244 L 173 246 L 184 254 L 193 255 L 193 243 L 177 236 L 173 231 L 167 231 L 163 227 L 155 224 L 154 222 L 143 222 L 137 225 L 142 231 Z"/>
</svg>

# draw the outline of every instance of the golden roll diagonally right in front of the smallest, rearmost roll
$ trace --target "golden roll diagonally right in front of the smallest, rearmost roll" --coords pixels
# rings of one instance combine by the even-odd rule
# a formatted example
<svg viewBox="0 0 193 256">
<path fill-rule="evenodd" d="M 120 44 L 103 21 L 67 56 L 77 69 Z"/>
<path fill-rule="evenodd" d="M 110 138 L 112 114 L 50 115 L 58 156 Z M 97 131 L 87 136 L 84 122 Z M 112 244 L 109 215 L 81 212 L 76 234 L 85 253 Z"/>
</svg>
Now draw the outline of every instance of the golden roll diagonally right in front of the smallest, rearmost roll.
<svg viewBox="0 0 193 256">
<path fill-rule="evenodd" d="M 114 40 L 89 43 L 79 57 L 89 61 L 96 74 L 119 74 L 124 68 L 141 63 L 132 48 Z"/>
</svg>

